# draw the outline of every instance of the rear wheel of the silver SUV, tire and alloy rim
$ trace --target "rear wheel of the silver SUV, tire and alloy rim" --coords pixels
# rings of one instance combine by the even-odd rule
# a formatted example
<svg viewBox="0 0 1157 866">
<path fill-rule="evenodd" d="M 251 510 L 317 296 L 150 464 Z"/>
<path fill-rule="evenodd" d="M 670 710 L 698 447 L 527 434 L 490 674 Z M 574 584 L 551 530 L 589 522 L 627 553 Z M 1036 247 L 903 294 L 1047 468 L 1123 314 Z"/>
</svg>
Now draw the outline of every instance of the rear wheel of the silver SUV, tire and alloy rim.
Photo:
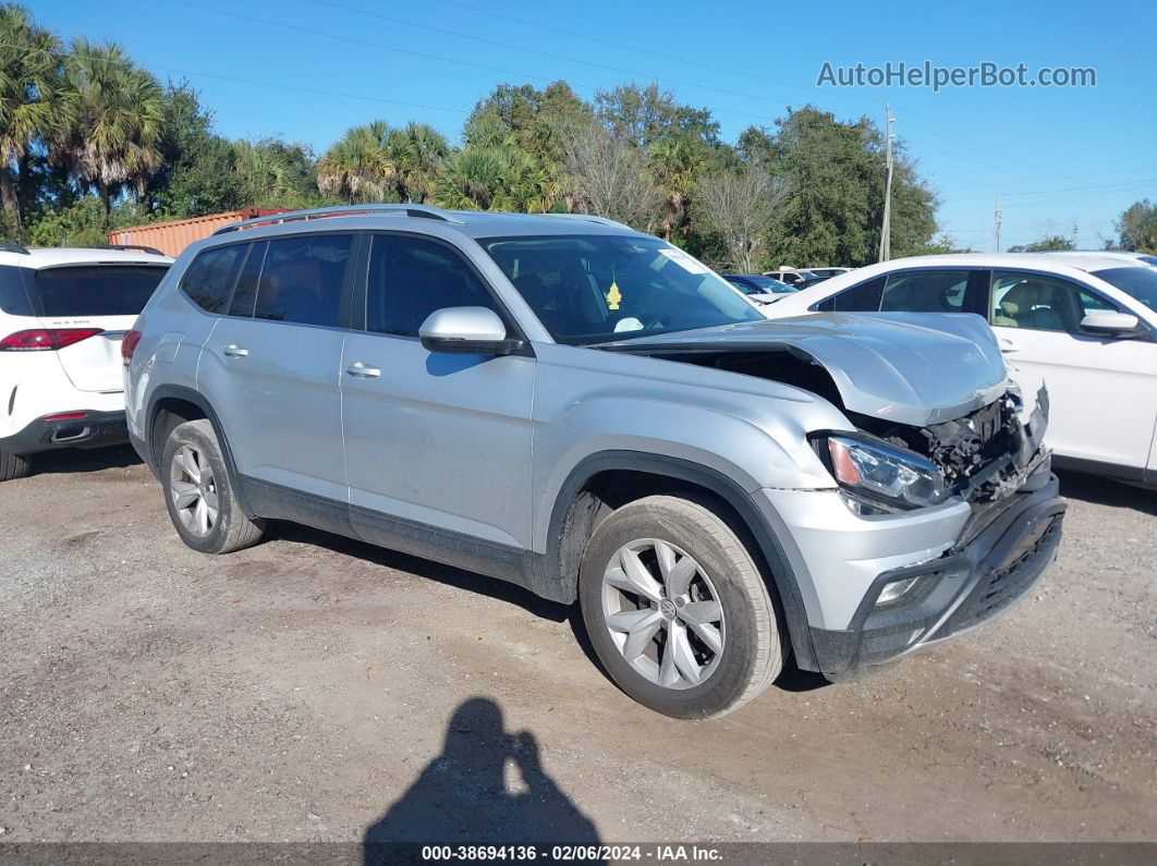
<svg viewBox="0 0 1157 866">
<path fill-rule="evenodd" d="M 265 521 L 250 518 L 234 494 L 209 421 L 186 421 L 174 428 L 161 457 L 161 487 L 180 540 L 206 554 L 228 554 L 256 545 Z"/>
</svg>

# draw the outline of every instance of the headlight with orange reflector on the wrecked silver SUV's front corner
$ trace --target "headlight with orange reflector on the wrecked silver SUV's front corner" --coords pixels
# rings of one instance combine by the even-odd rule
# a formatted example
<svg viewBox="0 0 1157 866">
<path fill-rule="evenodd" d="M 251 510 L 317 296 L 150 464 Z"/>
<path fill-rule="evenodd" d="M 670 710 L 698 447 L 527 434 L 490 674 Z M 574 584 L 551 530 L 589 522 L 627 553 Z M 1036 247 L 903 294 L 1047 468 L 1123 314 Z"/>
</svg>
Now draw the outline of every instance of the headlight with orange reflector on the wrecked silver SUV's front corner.
<svg viewBox="0 0 1157 866">
<path fill-rule="evenodd" d="M 832 474 L 853 501 L 884 511 L 938 505 L 948 498 L 944 473 L 931 460 L 882 442 L 827 439 Z"/>
</svg>

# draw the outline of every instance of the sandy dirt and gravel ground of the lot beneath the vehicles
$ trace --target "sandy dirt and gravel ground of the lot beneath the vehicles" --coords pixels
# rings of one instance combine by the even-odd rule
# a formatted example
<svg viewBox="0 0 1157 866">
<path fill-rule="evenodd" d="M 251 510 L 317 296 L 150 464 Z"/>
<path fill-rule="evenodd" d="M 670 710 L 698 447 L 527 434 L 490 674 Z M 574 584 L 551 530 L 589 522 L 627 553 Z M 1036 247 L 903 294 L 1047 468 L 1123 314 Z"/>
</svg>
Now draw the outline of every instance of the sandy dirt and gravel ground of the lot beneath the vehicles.
<svg viewBox="0 0 1157 866">
<path fill-rule="evenodd" d="M 1154 494 L 1066 478 L 1002 621 L 691 724 L 568 608 L 290 526 L 202 556 L 127 449 L 40 468 L 0 486 L 0 841 L 1157 837 Z"/>
</svg>

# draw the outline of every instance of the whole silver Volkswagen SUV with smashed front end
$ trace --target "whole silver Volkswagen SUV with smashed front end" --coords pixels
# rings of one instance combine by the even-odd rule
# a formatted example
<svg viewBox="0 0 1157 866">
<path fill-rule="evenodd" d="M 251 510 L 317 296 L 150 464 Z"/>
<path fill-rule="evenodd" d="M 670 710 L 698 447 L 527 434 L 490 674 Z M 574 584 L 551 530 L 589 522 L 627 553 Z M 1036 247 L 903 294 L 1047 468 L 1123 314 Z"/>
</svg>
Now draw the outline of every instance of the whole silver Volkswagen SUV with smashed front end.
<svg viewBox="0 0 1157 866">
<path fill-rule="evenodd" d="M 1060 541 L 1042 395 L 979 317 L 768 321 L 598 217 L 238 223 L 180 256 L 125 356 L 190 547 L 293 520 L 577 600 L 611 678 L 676 717 L 790 653 L 840 679 L 967 631 Z"/>
</svg>

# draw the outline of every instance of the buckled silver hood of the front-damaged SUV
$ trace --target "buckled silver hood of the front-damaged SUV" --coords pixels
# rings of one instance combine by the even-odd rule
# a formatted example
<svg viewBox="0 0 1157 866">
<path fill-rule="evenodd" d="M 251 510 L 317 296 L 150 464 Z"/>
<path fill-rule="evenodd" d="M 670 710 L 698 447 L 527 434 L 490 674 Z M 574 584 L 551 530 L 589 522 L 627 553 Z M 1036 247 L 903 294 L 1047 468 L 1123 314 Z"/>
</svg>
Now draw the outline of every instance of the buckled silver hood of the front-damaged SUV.
<svg viewBox="0 0 1157 866">
<path fill-rule="evenodd" d="M 599 348 L 646 355 L 793 351 L 827 370 L 848 410 L 916 427 L 958 419 L 1008 387 L 996 338 L 968 313 L 815 313 Z"/>
</svg>

